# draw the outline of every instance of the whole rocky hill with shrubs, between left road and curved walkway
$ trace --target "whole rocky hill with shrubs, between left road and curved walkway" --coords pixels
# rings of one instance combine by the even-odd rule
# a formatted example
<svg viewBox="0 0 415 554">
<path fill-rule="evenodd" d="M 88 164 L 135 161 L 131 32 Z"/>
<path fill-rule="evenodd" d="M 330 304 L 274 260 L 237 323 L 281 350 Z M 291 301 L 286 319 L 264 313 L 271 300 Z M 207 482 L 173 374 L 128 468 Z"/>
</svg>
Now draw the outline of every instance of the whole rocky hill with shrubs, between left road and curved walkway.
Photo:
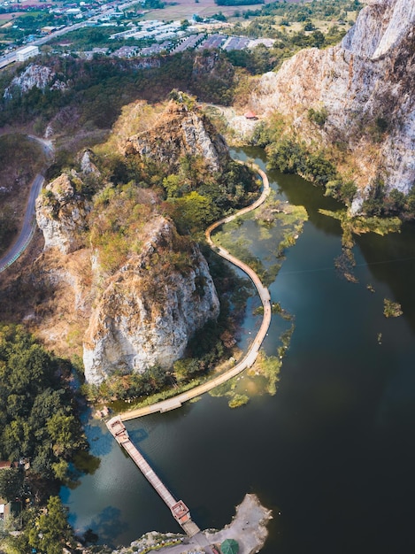
<svg viewBox="0 0 415 554">
<path fill-rule="evenodd" d="M 139 133 L 129 135 L 134 117 Z M 42 256 L 2 297 L 3 317 L 25 319 L 59 354 L 83 357 L 87 381 L 99 384 L 115 373 L 170 369 L 218 318 L 192 237 L 249 204 L 257 185 L 188 96 L 164 111 L 133 104 L 94 150 L 81 151 L 38 198 Z"/>
</svg>

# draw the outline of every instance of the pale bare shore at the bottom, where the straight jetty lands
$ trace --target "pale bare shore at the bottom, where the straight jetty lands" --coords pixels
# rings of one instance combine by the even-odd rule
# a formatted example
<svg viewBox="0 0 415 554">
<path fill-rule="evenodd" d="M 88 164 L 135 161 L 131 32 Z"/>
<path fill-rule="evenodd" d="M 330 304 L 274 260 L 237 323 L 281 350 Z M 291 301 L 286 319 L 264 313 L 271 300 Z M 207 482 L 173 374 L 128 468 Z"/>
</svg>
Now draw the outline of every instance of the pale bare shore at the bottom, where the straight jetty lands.
<svg viewBox="0 0 415 554">
<path fill-rule="evenodd" d="M 214 554 L 211 545 L 217 547 L 225 539 L 235 539 L 239 544 L 239 554 L 254 554 L 265 544 L 268 531 L 266 525 L 272 519 L 272 512 L 262 506 L 255 495 L 246 495 L 236 507 L 236 514 L 231 523 L 221 530 L 208 529 L 191 539 L 183 535 L 160 535 L 156 532 L 143 535 L 138 541 L 112 554 L 129 552 L 162 552 L 163 554 Z M 170 543 L 165 545 L 165 542 Z M 172 542 L 176 542 L 172 544 Z M 138 549 L 138 550 L 135 550 Z"/>
</svg>

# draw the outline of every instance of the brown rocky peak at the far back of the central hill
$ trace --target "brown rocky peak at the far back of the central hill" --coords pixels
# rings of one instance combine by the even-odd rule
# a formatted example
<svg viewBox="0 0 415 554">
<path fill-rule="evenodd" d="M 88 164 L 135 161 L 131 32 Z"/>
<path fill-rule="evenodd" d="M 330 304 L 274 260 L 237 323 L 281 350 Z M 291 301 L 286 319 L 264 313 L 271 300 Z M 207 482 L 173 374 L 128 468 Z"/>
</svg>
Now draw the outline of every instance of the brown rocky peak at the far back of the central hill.
<svg viewBox="0 0 415 554">
<path fill-rule="evenodd" d="M 227 144 L 204 115 L 187 104 L 171 102 L 156 125 L 131 136 L 125 145 L 127 155 L 139 154 L 177 169 L 183 156 L 201 157 L 211 171 L 219 171 L 227 159 Z"/>
</svg>

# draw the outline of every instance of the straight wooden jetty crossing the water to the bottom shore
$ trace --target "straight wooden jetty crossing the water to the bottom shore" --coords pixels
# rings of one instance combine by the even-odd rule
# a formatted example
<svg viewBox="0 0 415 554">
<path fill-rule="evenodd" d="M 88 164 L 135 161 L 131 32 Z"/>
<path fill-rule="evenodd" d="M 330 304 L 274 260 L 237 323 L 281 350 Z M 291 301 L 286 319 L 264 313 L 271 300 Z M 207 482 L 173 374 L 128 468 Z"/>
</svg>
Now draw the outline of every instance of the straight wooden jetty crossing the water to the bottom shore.
<svg viewBox="0 0 415 554">
<path fill-rule="evenodd" d="M 144 477 L 165 501 L 165 504 L 167 504 L 173 514 L 173 518 L 181 525 L 185 533 L 188 536 L 194 536 L 199 533 L 200 529 L 196 526 L 196 523 L 192 521 L 188 506 L 184 504 L 182 500 L 176 500 L 165 487 L 164 483 L 158 478 L 154 470 L 151 469 L 149 463 L 142 457 L 142 454 L 136 446 L 134 446 L 133 442 L 130 441 L 127 429 L 121 419 L 119 419 L 119 417 L 112 418 L 106 425 L 111 435 L 119 445 L 127 451 L 127 454 L 142 471 Z"/>
</svg>

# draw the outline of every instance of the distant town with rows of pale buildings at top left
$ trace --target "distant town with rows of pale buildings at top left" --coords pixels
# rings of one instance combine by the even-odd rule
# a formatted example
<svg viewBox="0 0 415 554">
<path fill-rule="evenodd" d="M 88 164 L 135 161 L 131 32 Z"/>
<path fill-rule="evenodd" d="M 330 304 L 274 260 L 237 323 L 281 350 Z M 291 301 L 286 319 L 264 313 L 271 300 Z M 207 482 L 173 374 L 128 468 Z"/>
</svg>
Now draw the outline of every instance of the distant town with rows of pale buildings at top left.
<svg viewBox="0 0 415 554">
<path fill-rule="evenodd" d="M 85 58 L 100 55 L 134 58 L 183 50 L 245 50 L 258 44 L 267 48 L 273 45 L 273 39 L 269 38 L 227 35 L 226 18 L 222 12 L 210 18 L 193 14 L 189 19 L 146 20 L 144 16 L 150 12 L 146 9 L 149 3 L 154 3 L 154 0 L 0 3 L 0 55 L 3 54 L 0 67 L 37 56 L 47 43 L 48 51 L 51 49 L 64 55 L 76 53 Z M 100 31 L 93 33 L 90 31 L 93 28 Z M 80 32 L 88 36 L 81 46 L 71 39 L 75 31 L 78 31 L 78 37 Z"/>
</svg>

